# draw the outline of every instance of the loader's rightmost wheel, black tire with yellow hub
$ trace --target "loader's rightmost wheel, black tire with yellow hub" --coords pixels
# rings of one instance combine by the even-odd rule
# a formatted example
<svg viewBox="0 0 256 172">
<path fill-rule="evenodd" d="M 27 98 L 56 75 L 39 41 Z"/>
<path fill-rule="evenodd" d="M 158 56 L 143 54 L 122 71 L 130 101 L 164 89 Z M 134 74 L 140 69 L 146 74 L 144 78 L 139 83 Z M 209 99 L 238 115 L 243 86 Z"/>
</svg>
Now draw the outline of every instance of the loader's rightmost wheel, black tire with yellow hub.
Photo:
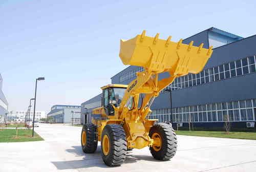
<svg viewBox="0 0 256 172">
<path fill-rule="evenodd" d="M 159 137 L 160 145 L 151 146 L 150 152 L 157 160 L 169 160 L 173 158 L 177 151 L 177 137 L 171 125 L 166 123 L 156 123 L 150 129 L 150 137 Z"/>
</svg>

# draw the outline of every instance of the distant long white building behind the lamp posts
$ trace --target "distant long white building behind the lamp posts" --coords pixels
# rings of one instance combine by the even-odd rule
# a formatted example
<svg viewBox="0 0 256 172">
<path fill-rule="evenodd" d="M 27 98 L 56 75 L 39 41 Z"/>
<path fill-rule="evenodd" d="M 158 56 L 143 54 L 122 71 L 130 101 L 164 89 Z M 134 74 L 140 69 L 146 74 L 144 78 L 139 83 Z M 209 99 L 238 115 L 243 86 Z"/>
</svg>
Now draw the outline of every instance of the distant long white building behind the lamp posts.
<svg viewBox="0 0 256 172">
<path fill-rule="evenodd" d="M 9 122 L 25 122 L 25 120 L 33 120 L 33 112 L 30 112 L 30 116 L 28 115 L 28 111 L 9 111 L 7 119 Z M 45 111 L 36 111 L 35 112 L 35 120 L 39 121 L 42 118 L 46 118 Z"/>
</svg>

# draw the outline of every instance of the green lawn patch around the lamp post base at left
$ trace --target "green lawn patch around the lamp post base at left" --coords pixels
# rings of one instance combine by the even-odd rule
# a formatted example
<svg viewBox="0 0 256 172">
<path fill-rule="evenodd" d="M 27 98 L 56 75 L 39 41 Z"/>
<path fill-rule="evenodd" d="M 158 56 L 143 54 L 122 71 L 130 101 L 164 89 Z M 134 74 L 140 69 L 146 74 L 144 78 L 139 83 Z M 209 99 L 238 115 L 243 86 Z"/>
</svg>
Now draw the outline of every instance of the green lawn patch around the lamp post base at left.
<svg viewBox="0 0 256 172">
<path fill-rule="evenodd" d="M 16 137 L 15 129 L 1 129 L 0 128 L 0 142 L 25 142 L 25 141 L 39 141 L 42 139 L 36 132 L 34 137 L 32 136 L 32 130 L 19 129 L 18 137 Z"/>
</svg>

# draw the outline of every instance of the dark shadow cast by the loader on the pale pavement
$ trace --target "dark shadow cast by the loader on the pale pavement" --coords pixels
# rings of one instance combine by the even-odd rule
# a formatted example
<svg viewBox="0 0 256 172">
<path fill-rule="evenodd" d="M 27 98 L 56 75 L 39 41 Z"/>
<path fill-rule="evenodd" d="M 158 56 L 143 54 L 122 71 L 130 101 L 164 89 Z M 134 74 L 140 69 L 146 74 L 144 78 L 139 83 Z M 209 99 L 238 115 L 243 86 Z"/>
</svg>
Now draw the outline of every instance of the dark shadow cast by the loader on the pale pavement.
<svg viewBox="0 0 256 172">
<path fill-rule="evenodd" d="M 81 146 L 72 146 L 72 149 L 66 149 L 66 151 L 74 156 L 82 156 L 83 160 L 75 161 L 55 161 L 52 162 L 57 169 L 77 169 L 77 168 L 113 168 L 106 166 L 101 158 L 101 146 L 98 145 L 97 150 L 94 154 L 84 154 L 82 152 Z M 137 161 L 157 161 L 152 156 L 149 155 L 133 155 L 133 151 L 127 152 L 125 164 L 135 163 Z"/>
</svg>

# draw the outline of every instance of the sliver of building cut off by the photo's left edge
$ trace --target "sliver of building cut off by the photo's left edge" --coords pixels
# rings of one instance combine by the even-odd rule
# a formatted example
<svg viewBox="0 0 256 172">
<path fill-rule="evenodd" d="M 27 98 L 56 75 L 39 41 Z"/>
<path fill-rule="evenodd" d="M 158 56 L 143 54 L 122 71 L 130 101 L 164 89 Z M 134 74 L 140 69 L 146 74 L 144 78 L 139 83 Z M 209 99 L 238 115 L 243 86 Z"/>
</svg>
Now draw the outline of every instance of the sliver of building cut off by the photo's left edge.
<svg viewBox="0 0 256 172">
<path fill-rule="evenodd" d="M 3 88 L 3 78 L 0 74 L 0 123 L 3 123 L 7 120 L 6 116 L 8 113 L 8 102 L 5 98 L 2 88 Z"/>
</svg>

